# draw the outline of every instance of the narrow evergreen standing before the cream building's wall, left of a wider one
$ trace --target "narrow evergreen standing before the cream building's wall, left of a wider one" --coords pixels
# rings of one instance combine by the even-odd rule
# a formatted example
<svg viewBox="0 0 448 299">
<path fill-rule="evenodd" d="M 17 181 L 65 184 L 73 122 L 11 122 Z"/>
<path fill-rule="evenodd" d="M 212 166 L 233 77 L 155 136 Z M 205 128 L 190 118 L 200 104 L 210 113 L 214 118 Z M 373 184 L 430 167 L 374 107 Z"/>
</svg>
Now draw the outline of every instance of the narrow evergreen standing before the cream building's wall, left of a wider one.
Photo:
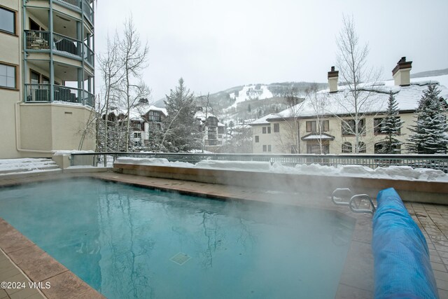
<svg viewBox="0 0 448 299">
<path fill-rule="evenodd" d="M 396 139 L 400 136 L 400 129 L 404 121 L 398 116 L 398 104 L 392 94 L 389 95 L 386 117 L 381 122 L 381 133 L 387 136 L 381 142 L 379 153 L 399 153 L 402 142 Z"/>
</svg>

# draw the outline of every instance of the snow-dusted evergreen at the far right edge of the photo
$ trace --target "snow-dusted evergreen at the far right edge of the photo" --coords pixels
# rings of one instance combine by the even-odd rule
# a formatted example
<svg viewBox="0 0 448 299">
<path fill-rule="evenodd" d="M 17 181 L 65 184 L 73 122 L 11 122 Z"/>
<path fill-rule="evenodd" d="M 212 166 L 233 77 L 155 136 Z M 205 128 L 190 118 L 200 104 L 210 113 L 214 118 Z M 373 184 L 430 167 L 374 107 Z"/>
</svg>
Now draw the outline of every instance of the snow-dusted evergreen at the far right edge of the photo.
<svg viewBox="0 0 448 299">
<path fill-rule="evenodd" d="M 440 90 L 434 84 L 428 85 L 423 92 L 416 110 L 416 125 L 409 127 L 413 133 L 407 139 L 407 150 L 411 153 L 447 153 L 447 103 L 439 94 Z"/>
</svg>

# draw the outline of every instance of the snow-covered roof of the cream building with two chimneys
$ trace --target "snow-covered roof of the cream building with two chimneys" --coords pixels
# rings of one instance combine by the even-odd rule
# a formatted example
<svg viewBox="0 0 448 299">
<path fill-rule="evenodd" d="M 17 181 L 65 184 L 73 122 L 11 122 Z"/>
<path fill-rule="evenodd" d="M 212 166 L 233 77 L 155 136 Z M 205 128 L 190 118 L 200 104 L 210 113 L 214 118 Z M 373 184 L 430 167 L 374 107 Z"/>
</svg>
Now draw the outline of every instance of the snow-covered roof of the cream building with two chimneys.
<svg viewBox="0 0 448 299">
<path fill-rule="evenodd" d="M 364 104 L 358 106 L 361 113 L 377 113 L 384 112 L 387 109 L 387 100 L 389 92 L 392 92 L 398 104 L 399 111 L 414 111 L 419 105 L 419 100 L 423 95 L 423 91 L 428 88 L 429 84 L 438 85 L 441 91 L 440 96 L 448 99 L 448 88 L 440 85 L 435 78 L 440 78 L 440 81 L 448 82 L 448 75 L 435 76 L 427 78 L 413 78 L 409 86 L 395 86 L 393 81 L 384 81 L 381 83 L 365 84 L 360 90 L 358 99 Z M 330 93 L 329 90 L 323 90 L 316 95 L 318 101 L 322 101 L 323 105 L 316 110 L 316 104 L 313 105 L 313 99 L 307 97 L 304 102 L 297 104 L 289 109 L 283 110 L 279 113 L 266 118 L 265 120 L 272 121 L 279 118 L 290 117 L 312 117 L 317 114 L 321 115 L 343 115 L 354 113 L 353 95 L 349 92 L 347 86 L 339 86 L 338 92 Z M 318 111 L 318 112 L 316 112 Z M 260 118 L 262 120 L 262 118 Z"/>
</svg>

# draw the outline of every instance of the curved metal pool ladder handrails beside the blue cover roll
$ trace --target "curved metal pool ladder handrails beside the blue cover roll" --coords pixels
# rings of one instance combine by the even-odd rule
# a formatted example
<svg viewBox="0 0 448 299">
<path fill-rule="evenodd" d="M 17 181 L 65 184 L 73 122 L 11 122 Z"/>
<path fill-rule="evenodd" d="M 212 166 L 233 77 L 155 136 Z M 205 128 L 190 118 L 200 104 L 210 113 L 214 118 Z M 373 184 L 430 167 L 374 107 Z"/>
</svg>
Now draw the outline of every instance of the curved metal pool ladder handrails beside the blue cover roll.
<svg viewBox="0 0 448 299">
<path fill-rule="evenodd" d="M 349 200 L 347 200 L 350 198 Z M 345 199 L 345 200 L 344 200 Z M 331 200 L 334 204 L 338 206 L 349 206 L 353 213 L 370 213 L 374 214 L 377 210 L 372 198 L 367 194 L 355 194 L 349 188 L 336 188 L 331 194 Z M 361 206 L 362 202 L 367 202 L 369 204 L 368 209 L 364 209 Z"/>
</svg>

